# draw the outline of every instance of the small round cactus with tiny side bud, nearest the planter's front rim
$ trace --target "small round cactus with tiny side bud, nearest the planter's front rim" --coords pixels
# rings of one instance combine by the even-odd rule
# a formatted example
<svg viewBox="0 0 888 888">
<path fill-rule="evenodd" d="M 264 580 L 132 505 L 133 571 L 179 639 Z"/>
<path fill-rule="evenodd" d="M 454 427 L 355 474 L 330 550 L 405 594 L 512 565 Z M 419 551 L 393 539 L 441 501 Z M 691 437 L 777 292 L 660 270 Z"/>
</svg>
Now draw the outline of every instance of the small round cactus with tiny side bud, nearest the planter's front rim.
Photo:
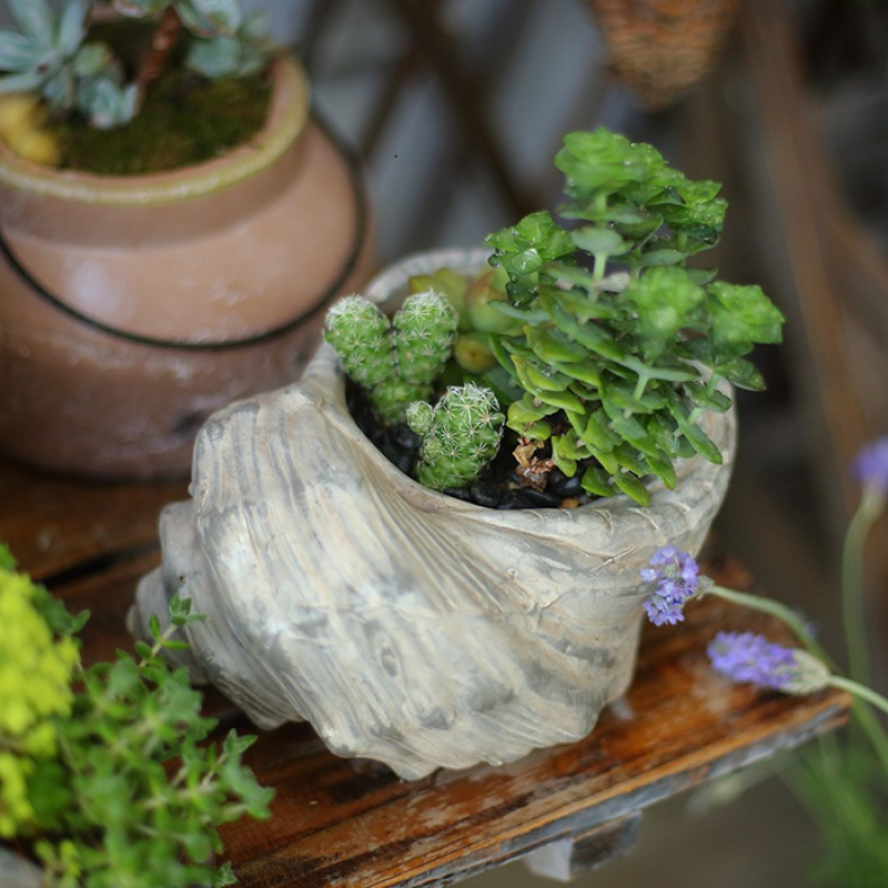
<svg viewBox="0 0 888 888">
<path fill-rule="evenodd" d="M 447 389 L 434 407 L 412 403 L 406 418 L 422 437 L 416 480 L 444 491 L 471 485 L 496 456 L 505 417 L 490 389 L 467 383 Z"/>
</svg>

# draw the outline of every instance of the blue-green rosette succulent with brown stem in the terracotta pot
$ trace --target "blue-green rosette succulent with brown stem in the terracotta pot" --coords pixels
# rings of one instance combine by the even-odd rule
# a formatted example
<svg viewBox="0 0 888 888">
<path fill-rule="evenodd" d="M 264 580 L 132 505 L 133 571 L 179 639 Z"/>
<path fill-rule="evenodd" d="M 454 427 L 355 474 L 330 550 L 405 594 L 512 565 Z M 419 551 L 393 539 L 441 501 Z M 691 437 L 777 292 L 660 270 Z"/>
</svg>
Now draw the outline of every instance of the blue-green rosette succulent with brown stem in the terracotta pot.
<svg viewBox="0 0 888 888">
<path fill-rule="evenodd" d="M 32 142 L 47 115 L 78 114 L 99 129 L 129 123 L 183 33 L 190 36 L 184 65 L 211 80 L 254 73 L 271 50 L 262 17 L 244 17 L 240 0 L 68 0 L 58 17 L 47 0 L 8 0 L 8 6 L 20 30 L 0 31 L 0 95 L 20 101 L 0 112 L 0 123 L 14 119 L 16 127 L 3 128 L 12 129 L 3 135 L 13 150 L 19 123 L 26 132 L 20 141 Z M 132 79 L 111 46 L 91 32 L 93 13 L 102 8 L 155 19 L 149 51 Z M 41 145 L 33 153 L 52 163 L 57 152 Z"/>
</svg>

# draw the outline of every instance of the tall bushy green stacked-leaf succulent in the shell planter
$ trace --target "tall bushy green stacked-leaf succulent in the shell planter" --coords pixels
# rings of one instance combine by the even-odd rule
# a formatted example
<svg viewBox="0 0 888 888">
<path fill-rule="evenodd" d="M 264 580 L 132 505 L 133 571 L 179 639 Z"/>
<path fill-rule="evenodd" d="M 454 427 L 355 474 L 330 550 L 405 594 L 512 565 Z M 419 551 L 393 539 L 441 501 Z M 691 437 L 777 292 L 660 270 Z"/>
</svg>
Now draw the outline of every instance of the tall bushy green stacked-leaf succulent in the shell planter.
<svg viewBox="0 0 888 888">
<path fill-rule="evenodd" d="M 604 129 L 566 135 L 555 163 L 567 224 L 538 212 L 487 239 L 513 326 L 490 344 L 524 392 L 507 424 L 568 476 L 582 467 L 587 492 L 646 504 L 643 478 L 672 487 L 677 457 L 720 462 L 699 417 L 730 406 L 722 380 L 764 387 L 745 355 L 780 341 L 783 316 L 759 287 L 685 266 L 718 241 L 717 183 Z"/>
</svg>

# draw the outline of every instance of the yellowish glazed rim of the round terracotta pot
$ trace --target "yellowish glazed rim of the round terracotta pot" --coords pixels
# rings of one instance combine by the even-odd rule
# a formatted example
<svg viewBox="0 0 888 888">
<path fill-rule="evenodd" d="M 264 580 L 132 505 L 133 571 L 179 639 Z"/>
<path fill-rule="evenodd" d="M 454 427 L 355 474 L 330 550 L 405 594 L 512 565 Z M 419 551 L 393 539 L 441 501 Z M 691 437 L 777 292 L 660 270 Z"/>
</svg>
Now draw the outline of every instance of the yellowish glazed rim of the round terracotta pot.
<svg viewBox="0 0 888 888">
<path fill-rule="evenodd" d="M 33 163 L 0 142 L 0 183 L 64 201 L 119 206 L 151 206 L 215 193 L 270 167 L 305 129 L 310 87 L 302 64 L 294 57 L 280 57 L 272 77 L 265 125 L 250 142 L 221 158 L 168 172 L 98 175 Z"/>
</svg>

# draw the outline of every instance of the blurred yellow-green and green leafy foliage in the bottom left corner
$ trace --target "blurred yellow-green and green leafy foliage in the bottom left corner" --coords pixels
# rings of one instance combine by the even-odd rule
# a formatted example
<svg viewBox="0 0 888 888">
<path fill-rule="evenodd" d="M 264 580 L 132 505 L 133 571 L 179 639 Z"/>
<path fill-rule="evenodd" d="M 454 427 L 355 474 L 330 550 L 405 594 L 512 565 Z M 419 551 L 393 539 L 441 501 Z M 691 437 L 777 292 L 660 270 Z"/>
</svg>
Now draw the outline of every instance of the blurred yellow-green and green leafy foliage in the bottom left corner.
<svg viewBox="0 0 888 888">
<path fill-rule="evenodd" d="M 243 765 L 252 737 L 208 741 L 215 722 L 164 649 L 200 615 L 173 599 L 153 644 L 83 668 L 73 618 L 0 549 L 0 837 L 30 849 L 57 888 L 231 884 L 216 827 L 266 817 Z"/>
</svg>

